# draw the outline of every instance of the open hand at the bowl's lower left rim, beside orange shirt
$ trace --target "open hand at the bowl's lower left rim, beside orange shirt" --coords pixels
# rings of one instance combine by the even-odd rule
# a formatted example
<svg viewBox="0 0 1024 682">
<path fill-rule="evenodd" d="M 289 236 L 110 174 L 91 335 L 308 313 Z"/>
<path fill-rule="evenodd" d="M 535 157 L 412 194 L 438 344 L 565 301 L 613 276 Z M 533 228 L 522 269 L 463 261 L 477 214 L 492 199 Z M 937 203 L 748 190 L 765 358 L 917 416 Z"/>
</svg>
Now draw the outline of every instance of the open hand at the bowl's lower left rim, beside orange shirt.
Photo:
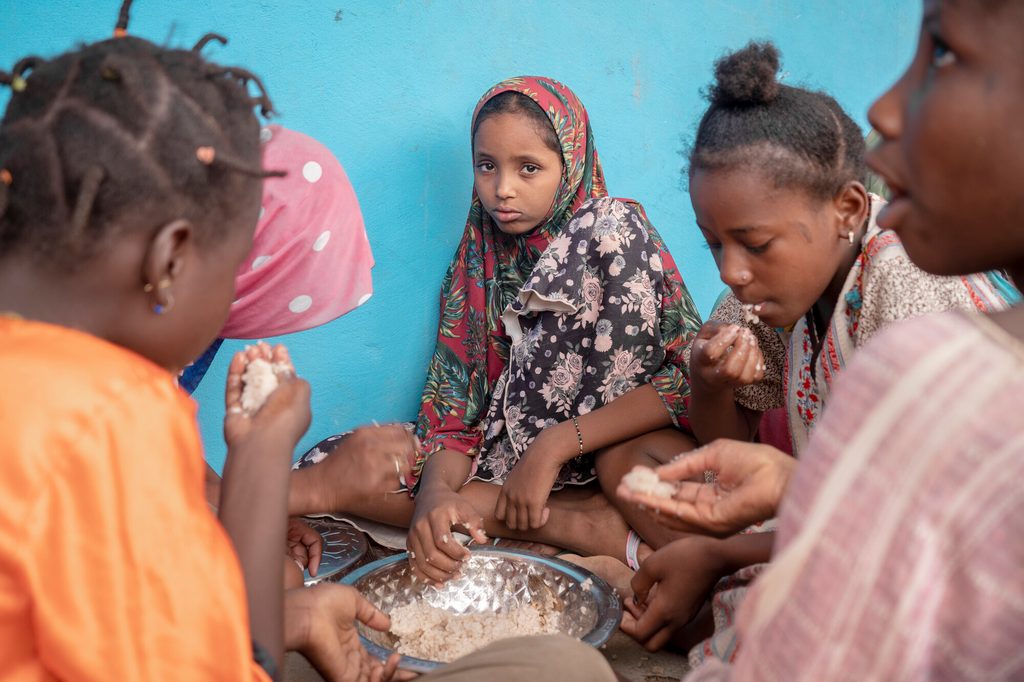
<svg viewBox="0 0 1024 682">
<path fill-rule="evenodd" d="M 302 653 L 325 679 L 413 679 L 397 670 L 397 653 L 382 664 L 362 648 L 356 621 L 380 632 L 391 626 L 387 614 L 347 586 L 322 583 L 285 592 L 285 648 Z"/>
</svg>

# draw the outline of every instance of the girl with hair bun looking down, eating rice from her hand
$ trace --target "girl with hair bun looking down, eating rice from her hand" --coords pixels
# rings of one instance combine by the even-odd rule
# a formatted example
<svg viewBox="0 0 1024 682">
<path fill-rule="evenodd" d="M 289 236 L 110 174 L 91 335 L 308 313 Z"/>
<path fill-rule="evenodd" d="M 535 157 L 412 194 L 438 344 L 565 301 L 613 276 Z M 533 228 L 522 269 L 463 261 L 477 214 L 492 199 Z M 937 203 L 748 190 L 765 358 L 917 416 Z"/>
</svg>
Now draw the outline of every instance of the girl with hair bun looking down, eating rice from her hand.
<svg viewBox="0 0 1024 682">
<path fill-rule="evenodd" d="M 771 43 L 720 59 L 690 152 L 697 225 L 731 291 L 690 348 L 689 418 L 701 442 L 752 440 L 763 413 L 784 408 L 799 455 L 836 377 L 884 328 L 929 312 L 1002 310 L 1016 292 L 995 274 L 915 266 L 896 233 L 876 223 L 885 202 L 864 188 L 857 124 L 829 95 L 779 83 L 778 69 Z M 692 530 L 656 518 L 667 530 Z M 680 640 L 707 602 L 715 634 L 693 647 L 691 663 L 730 659 L 732 619 L 773 535 L 676 535 L 640 567 L 639 605 L 628 604 L 623 629 L 658 648 Z M 690 624 L 700 634 L 686 645 L 712 632 L 705 623 Z"/>
</svg>

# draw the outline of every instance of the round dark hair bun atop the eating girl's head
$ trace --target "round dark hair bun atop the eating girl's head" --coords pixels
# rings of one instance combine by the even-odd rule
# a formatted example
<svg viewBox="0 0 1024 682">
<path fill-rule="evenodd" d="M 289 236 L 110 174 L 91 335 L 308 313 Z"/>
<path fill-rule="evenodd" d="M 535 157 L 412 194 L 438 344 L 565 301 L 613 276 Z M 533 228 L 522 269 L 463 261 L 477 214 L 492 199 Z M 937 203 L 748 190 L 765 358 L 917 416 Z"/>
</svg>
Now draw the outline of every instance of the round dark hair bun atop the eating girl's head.
<svg viewBox="0 0 1024 682">
<path fill-rule="evenodd" d="M 712 104 L 752 106 L 778 96 L 778 48 L 771 42 L 751 42 L 715 62 Z"/>
</svg>

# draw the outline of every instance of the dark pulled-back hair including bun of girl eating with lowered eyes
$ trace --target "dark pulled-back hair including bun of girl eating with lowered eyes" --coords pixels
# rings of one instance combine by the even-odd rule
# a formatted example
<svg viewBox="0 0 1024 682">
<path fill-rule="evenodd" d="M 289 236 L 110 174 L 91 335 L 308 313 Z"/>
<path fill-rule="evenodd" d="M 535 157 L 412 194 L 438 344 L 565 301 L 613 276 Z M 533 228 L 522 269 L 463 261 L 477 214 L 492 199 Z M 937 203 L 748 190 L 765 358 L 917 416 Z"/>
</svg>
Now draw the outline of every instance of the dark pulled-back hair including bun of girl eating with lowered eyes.
<svg viewBox="0 0 1024 682">
<path fill-rule="evenodd" d="M 831 199 L 863 182 L 864 139 L 823 92 L 782 85 L 778 49 L 752 42 L 715 62 L 711 105 L 690 150 L 689 172 L 754 167 L 778 187 Z"/>
</svg>

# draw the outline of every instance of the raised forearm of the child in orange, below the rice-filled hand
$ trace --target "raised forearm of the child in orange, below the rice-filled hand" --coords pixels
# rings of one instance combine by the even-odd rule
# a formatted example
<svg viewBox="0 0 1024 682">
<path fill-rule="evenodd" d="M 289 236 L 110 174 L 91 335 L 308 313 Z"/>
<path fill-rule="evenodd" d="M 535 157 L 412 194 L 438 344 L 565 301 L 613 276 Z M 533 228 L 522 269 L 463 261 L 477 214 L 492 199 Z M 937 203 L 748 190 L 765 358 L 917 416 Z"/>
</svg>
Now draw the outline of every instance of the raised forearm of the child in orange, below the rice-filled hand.
<svg viewBox="0 0 1024 682">
<path fill-rule="evenodd" d="M 220 486 L 220 521 L 242 564 L 252 638 L 281 665 L 284 566 L 288 528 L 290 441 L 261 438 L 228 452 Z"/>
</svg>

